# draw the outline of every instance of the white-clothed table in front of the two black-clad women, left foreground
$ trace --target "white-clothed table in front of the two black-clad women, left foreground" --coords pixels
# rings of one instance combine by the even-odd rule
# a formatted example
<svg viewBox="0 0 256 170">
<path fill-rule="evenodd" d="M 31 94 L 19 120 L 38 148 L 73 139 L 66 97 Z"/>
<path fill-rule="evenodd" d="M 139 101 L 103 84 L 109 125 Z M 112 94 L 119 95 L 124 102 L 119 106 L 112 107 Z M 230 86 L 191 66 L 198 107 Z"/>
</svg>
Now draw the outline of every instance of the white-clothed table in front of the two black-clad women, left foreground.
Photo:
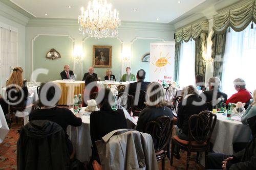
<svg viewBox="0 0 256 170">
<path fill-rule="evenodd" d="M 92 156 L 92 141 L 90 135 L 90 114 L 91 112 L 84 111 L 83 107 L 79 113 L 82 114 L 82 125 L 80 127 L 68 126 L 67 134 L 73 144 L 73 149 L 76 153 L 76 159 L 81 162 L 89 162 Z M 122 108 L 126 119 L 130 119 L 135 125 L 137 125 L 138 117 L 131 117 L 129 113 Z M 70 109 L 73 113 L 73 108 Z"/>
</svg>

